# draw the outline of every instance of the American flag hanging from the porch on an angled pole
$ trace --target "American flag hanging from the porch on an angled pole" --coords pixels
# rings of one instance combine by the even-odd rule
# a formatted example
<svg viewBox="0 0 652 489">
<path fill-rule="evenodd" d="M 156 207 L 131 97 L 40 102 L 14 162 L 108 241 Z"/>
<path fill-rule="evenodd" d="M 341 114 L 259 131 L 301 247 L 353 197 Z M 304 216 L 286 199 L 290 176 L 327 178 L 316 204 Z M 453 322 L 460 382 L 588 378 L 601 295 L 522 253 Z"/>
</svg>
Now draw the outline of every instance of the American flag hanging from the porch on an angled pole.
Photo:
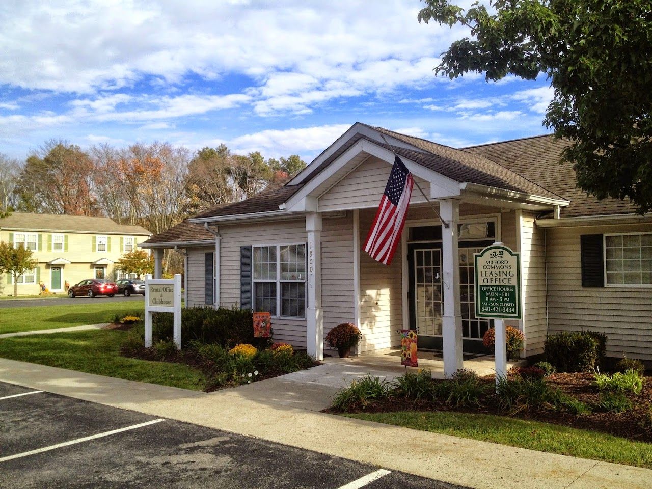
<svg viewBox="0 0 652 489">
<path fill-rule="evenodd" d="M 392 257 L 398 246 L 406 222 L 413 185 L 412 173 L 401 158 L 396 156 L 376 217 L 364 241 L 364 251 L 370 254 L 371 258 L 385 265 L 392 263 Z"/>
</svg>

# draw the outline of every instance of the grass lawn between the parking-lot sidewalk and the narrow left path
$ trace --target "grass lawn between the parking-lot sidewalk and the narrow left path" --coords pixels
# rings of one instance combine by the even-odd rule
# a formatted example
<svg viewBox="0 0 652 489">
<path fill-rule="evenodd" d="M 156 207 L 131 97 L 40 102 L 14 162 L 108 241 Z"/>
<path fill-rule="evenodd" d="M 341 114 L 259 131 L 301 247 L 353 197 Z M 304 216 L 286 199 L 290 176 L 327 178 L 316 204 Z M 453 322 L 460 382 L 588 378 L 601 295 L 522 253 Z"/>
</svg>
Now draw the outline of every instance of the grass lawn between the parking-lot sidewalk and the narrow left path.
<svg viewBox="0 0 652 489">
<path fill-rule="evenodd" d="M 126 334 L 127 331 L 96 329 L 3 338 L 0 357 L 195 391 L 203 389 L 206 379 L 196 368 L 121 357 L 120 345 Z"/>
</svg>

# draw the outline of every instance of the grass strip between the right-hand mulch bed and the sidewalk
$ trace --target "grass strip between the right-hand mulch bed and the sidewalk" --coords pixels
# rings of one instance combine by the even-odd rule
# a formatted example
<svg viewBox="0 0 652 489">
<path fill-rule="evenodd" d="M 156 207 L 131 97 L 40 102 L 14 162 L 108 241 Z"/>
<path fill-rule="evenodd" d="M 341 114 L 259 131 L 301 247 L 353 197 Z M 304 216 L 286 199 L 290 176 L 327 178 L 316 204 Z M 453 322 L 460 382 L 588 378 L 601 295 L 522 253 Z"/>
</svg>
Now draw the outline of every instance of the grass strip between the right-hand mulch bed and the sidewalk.
<svg viewBox="0 0 652 489">
<path fill-rule="evenodd" d="M 343 416 L 512 447 L 652 468 L 652 444 L 556 424 L 442 411 L 398 411 Z"/>
</svg>

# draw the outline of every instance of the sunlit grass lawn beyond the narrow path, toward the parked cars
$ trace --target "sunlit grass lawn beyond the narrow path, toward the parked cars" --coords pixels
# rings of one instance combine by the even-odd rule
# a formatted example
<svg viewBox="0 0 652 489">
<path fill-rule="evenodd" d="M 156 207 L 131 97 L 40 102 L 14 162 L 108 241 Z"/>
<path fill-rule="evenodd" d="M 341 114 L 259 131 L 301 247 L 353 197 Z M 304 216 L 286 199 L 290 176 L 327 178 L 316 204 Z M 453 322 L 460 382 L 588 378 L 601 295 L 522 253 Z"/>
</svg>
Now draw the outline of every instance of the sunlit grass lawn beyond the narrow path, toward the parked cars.
<svg viewBox="0 0 652 489">
<path fill-rule="evenodd" d="M 101 302 L 100 302 L 101 301 Z M 85 324 L 108 323 L 114 314 L 139 312 L 144 303 L 98 299 L 74 306 L 32 306 L 0 309 L 0 334 L 37 329 L 64 328 Z"/>
</svg>

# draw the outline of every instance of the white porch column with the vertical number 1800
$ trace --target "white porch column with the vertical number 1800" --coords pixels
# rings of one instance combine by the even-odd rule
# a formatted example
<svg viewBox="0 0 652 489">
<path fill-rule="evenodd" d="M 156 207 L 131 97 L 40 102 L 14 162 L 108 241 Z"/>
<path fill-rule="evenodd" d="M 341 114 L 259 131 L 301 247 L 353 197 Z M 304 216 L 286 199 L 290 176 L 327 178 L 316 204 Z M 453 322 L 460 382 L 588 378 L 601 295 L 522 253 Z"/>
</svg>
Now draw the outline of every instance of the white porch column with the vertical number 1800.
<svg viewBox="0 0 652 489">
<path fill-rule="evenodd" d="M 316 360 L 324 357 L 324 329 L 321 312 L 321 214 L 306 214 L 308 233 L 308 307 L 306 308 L 306 350 Z"/>
</svg>

